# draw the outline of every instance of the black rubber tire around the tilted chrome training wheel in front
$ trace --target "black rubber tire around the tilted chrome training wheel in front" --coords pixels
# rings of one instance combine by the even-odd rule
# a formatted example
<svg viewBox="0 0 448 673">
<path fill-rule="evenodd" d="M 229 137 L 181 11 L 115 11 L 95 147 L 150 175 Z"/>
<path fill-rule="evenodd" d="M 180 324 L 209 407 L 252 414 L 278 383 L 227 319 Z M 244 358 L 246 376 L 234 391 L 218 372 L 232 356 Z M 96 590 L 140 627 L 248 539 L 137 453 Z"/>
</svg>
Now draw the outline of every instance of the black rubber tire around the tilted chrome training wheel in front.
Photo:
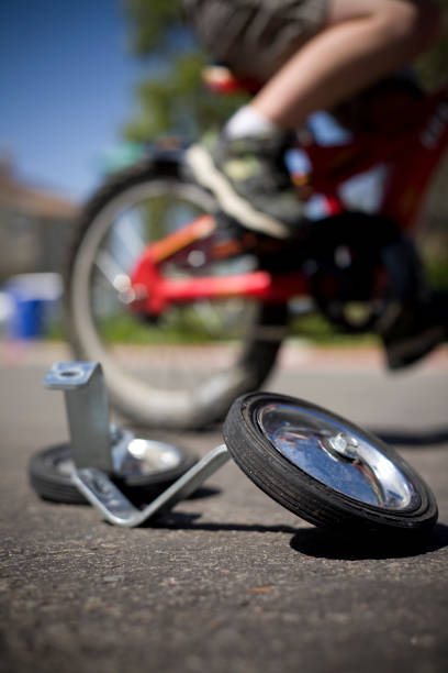
<svg viewBox="0 0 448 673">
<path fill-rule="evenodd" d="M 325 417 L 376 448 L 412 484 L 415 497 L 397 509 L 355 498 L 326 484 L 285 457 L 264 433 L 257 420 L 268 405 L 299 406 L 304 415 Z M 390 446 L 355 423 L 304 400 L 254 393 L 235 400 L 224 423 L 228 451 L 243 472 L 267 495 L 306 521 L 361 538 L 413 540 L 437 521 L 437 504 L 419 475 Z"/>
</svg>

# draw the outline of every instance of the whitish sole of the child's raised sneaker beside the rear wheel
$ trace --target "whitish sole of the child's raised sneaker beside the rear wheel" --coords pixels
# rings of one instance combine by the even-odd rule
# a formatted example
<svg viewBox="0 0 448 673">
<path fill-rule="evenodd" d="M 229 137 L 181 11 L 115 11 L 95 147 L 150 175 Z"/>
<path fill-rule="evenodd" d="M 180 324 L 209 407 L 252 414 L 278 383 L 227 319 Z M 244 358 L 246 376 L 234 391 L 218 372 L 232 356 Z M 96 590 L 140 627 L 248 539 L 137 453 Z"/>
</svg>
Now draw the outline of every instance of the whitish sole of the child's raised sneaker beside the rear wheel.
<svg viewBox="0 0 448 673">
<path fill-rule="evenodd" d="M 201 145 L 192 145 L 186 152 L 189 167 L 200 185 L 210 189 L 225 213 L 235 218 L 246 229 L 267 234 L 275 239 L 288 239 L 291 233 L 285 224 L 256 210 L 243 199 L 227 178 L 221 173 L 211 154 Z"/>
</svg>

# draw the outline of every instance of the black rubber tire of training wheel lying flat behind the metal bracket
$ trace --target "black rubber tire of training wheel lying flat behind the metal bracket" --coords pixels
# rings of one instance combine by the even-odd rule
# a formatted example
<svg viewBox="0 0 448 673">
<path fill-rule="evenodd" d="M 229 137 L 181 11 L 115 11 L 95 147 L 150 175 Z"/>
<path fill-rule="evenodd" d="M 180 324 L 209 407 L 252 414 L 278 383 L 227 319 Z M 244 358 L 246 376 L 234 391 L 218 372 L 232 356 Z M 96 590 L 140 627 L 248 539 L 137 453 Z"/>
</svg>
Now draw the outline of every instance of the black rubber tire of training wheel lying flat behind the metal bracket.
<svg viewBox="0 0 448 673">
<path fill-rule="evenodd" d="M 32 455 L 29 462 L 29 479 L 41 498 L 72 505 L 88 504 L 70 479 L 70 462 L 69 444 L 56 444 Z M 112 477 L 112 481 L 133 503 L 146 504 L 168 488 L 195 462 L 195 456 L 183 454 L 181 462 L 176 467 L 148 475 Z"/>
</svg>

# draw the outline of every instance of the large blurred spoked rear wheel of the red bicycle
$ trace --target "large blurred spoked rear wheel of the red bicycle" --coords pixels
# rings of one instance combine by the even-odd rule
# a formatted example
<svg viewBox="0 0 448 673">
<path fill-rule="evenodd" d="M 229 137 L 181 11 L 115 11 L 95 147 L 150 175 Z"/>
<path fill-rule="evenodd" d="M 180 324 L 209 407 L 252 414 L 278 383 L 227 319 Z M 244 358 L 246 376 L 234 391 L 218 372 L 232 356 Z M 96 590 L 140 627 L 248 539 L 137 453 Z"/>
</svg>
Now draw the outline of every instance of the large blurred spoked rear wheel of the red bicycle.
<svg viewBox="0 0 448 673">
<path fill-rule="evenodd" d="M 284 335 L 287 308 L 244 297 L 172 305 L 155 322 L 120 298 L 146 245 L 216 209 L 178 161 L 147 161 L 108 183 L 87 205 L 67 267 L 66 323 L 79 358 L 100 361 L 111 402 L 147 427 L 192 429 L 222 418 L 258 388 Z M 194 251 L 193 251 L 194 252 Z M 254 255 L 170 263 L 170 277 L 232 275 Z"/>
</svg>

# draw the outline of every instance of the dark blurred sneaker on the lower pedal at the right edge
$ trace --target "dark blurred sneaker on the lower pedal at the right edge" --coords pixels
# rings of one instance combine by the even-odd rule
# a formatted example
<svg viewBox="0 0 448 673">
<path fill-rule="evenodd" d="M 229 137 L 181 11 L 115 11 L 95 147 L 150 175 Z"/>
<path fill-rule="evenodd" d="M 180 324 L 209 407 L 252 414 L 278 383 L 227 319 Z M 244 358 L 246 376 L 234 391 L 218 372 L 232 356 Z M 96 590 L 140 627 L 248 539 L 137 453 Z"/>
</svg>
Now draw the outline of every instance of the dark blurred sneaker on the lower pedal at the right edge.
<svg viewBox="0 0 448 673">
<path fill-rule="evenodd" d="M 448 338 L 446 294 L 434 294 L 413 308 L 391 306 L 390 311 L 395 316 L 381 334 L 390 369 L 414 364 Z"/>
</svg>

